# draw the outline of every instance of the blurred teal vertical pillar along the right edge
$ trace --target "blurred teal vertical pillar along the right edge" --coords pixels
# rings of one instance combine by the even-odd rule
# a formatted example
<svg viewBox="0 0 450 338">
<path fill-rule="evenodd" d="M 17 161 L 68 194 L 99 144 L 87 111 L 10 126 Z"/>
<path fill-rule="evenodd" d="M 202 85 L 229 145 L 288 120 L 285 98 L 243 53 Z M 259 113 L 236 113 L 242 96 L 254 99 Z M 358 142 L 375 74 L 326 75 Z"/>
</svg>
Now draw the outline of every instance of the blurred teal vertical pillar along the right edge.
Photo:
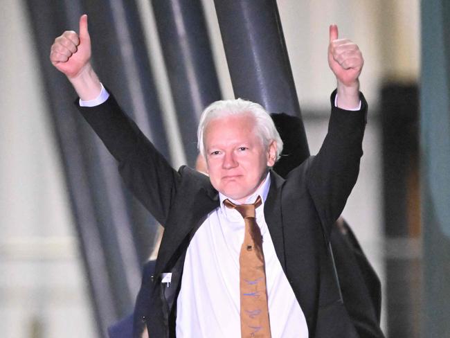
<svg viewBox="0 0 450 338">
<path fill-rule="evenodd" d="M 422 337 L 450 337 L 450 3 L 421 6 Z"/>
</svg>

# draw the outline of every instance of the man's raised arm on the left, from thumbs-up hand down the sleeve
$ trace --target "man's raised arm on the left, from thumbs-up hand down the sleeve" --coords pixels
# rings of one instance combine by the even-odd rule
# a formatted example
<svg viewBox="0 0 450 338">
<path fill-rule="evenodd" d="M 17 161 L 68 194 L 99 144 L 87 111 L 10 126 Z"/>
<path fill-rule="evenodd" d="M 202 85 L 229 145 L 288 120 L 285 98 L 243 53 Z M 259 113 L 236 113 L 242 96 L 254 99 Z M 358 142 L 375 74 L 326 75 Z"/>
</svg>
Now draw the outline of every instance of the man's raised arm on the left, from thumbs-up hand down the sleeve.
<svg viewBox="0 0 450 338">
<path fill-rule="evenodd" d="M 80 34 L 65 31 L 51 46 L 50 60 L 64 73 L 82 100 L 97 98 L 102 84 L 91 66 L 91 39 L 87 15 L 80 17 Z M 129 118 L 114 96 L 96 107 L 79 107 L 82 116 L 119 163 L 120 175 L 134 195 L 165 224 L 181 181 L 179 172 Z"/>
</svg>

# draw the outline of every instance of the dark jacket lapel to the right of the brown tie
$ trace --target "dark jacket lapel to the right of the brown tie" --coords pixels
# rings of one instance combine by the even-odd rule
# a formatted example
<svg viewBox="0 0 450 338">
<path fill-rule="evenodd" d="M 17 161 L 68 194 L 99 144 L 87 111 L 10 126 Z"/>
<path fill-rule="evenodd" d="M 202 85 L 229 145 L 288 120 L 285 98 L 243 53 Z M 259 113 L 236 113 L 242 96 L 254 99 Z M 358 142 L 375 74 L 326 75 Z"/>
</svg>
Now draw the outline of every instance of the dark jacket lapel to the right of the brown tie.
<svg viewBox="0 0 450 338">
<path fill-rule="evenodd" d="M 285 239 L 281 217 L 281 188 L 284 182 L 285 180 L 282 177 L 271 171 L 271 185 L 266 202 L 264 202 L 264 218 L 269 228 L 276 255 L 286 274 Z"/>
</svg>

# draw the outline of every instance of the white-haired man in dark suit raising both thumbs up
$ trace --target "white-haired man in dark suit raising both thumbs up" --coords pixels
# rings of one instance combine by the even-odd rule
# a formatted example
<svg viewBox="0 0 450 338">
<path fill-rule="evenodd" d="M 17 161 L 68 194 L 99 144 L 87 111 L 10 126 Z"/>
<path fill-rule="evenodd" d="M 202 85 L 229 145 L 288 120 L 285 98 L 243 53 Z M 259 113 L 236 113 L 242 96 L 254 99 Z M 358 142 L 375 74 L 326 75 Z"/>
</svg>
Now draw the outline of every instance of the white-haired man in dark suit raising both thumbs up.
<svg viewBox="0 0 450 338">
<path fill-rule="evenodd" d="M 165 226 L 151 305 L 141 315 L 150 337 L 358 337 L 327 245 L 359 172 L 367 104 L 359 93 L 361 52 L 337 38 L 330 26 L 328 61 L 337 89 L 327 137 L 316 157 L 286 180 L 271 171 L 282 142 L 260 105 L 210 105 L 198 134 L 209 178 L 186 166 L 175 171 L 98 80 L 87 16 L 80 18 L 80 35 L 55 39 L 51 61 L 80 96 L 84 118 L 118 160 L 129 188 Z M 244 246 L 247 220 L 237 211 L 254 202 L 253 216 L 242 217 L 256 221 L 258 235 L 251 237 L 262 242 Z M 243 251 L 263 256 L 264 277 L 242 278 Z M 260 281 L 264 292 L 240 289 Z M 265 297 L 266 310 L 242 310 L 243 299 Z M 268 318 L 264 327 L 247 325 L 260 317 Z"/>
</svg>

